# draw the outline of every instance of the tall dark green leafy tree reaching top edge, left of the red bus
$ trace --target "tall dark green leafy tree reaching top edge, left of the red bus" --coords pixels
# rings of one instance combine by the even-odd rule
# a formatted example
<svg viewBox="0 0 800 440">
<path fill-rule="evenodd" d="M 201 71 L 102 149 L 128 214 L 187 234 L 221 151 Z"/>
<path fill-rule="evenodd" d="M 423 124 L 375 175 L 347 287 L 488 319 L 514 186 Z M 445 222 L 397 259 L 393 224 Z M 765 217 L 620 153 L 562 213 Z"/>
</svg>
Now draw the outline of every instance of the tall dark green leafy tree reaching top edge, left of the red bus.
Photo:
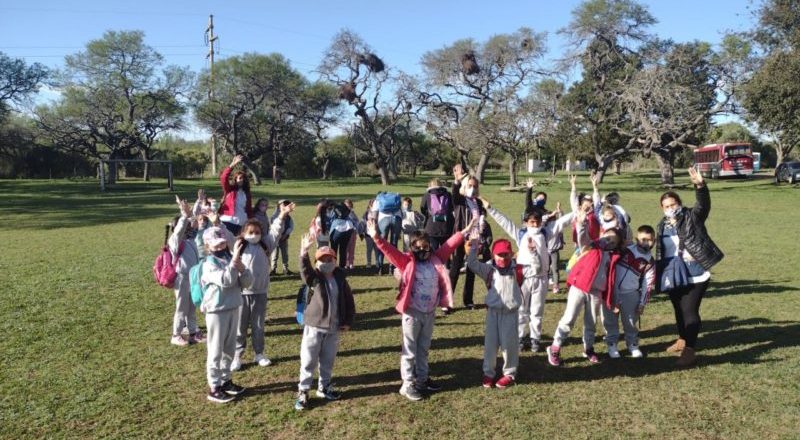
<svg viewBox="0 0 800 440">
<path fill-rule="evenodd" d="M 601 181 L 608 166 L 636 144 L 635 137 L 620 131 L 629 124 L 620 94 L 641 66 L 638 49 L 652 40 L 647 31 L 655 23 L 645 7 L 632 0 L 588 0 L 561 30 L 574 48 L 566 67 L 575 62 L 582 66 L 581 80 L 570 87 L 562 104 L 589 134 Z"/>
</svg>

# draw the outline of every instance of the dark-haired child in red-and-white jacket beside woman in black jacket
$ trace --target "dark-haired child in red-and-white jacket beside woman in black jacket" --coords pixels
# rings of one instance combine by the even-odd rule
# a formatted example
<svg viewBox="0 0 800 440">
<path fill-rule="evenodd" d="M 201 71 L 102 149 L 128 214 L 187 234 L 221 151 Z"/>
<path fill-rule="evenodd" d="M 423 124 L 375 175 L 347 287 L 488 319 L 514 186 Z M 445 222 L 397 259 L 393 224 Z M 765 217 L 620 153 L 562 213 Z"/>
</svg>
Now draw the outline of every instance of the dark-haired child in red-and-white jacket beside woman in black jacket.
<svg viewBox="0 0 800 440">
<path fill-rule="evenodd" d="M 644 356 L 639 349 L 636 319 L 644 311 L 656 283 L 655 259 L 651 254 L 655 234 L 652 226 L 639 227 L 636 231 L 636 243 L 624 248 L 622 257 L 617 262 L 612 294 L 603 298 L 606 303 L 603 307 L 603 327 L 606 330 L 608 357 L 612 359 L 620 357 L 617 348 L 620 318 L 625 330 L 625 344 L 631 357 Z"/>
</svg>

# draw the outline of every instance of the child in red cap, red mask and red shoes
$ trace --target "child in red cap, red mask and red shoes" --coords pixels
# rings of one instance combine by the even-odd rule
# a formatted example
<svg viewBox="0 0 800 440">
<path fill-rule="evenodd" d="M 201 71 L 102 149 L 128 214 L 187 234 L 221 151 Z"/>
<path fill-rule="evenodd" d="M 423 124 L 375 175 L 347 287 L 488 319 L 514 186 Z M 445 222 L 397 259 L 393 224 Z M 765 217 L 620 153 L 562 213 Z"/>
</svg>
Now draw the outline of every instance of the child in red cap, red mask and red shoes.
<svg viewBox="0 0 800 440">
<path fill-rule="evenodd" d="M 478 236 L 471 237 L 477 241 Z M 519 365 L 519 307 L 522 291 L 521 271 L 514 262 L 511 242 L 500 239 L 492 244 L 492 264 L 481 263 L 477 257 L 477 242 L 470 246 L 467 266 L 481 277 L 486 292 L 486 328 L 483 340 L 483 387 L 506 388 L 514 384 Z M 495 382 L 497 349 L 503 354 L 503 376 Z"/>
</svg>

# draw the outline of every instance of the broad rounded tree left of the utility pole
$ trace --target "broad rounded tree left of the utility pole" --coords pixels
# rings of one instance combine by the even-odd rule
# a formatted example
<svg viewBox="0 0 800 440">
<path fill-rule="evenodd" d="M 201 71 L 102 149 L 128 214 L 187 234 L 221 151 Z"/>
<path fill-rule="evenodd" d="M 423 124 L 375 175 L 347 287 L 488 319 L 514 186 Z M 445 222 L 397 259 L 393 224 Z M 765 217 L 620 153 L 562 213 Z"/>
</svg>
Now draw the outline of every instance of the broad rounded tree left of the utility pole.
<svg viewBox="0 0 800 440">
<path fill-rule="evenodd" d="M 163 65 L 141 31 L 107 31 L 65 58 L 61 98 L 36 113 L 42 136 L 57 147 L 96 159 L 152 158 L 157 138 L 183 127 L 181 98 L 192 84 L 188 68 Z M 149 168 L 144 167 L 149 179 Z M 109 182 L 116 180 L 116 166 Z"/>
</svg>

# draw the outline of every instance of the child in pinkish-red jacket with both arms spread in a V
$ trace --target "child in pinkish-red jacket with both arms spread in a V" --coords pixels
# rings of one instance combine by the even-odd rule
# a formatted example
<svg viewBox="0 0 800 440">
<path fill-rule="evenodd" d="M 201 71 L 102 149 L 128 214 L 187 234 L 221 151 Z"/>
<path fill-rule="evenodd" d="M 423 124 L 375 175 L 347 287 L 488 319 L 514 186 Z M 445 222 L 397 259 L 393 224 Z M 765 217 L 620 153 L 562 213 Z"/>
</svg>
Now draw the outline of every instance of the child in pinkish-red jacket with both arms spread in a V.
<svg viewBox="0 0 800 440">
<path fill-rule="evenodd" d="M 400 293 L 395 310 L 402 315 L 403 344 L 400 355 L 400 394 L 412 401 L 422 400 L 421 391 L 438 391 L 441 387 L 428 376 L 428 350 L 433 336 L 436 307 L 453 307 L 453 288 L 445 263 L 473 229 L 477 218 L 456 232 L 435 252 L 424 232 L 411 238 L 411 252 L 400 252 L 378 234 L 374 219 L 367 221 L 367 233 L 400 276 Z"/>
</svg>

